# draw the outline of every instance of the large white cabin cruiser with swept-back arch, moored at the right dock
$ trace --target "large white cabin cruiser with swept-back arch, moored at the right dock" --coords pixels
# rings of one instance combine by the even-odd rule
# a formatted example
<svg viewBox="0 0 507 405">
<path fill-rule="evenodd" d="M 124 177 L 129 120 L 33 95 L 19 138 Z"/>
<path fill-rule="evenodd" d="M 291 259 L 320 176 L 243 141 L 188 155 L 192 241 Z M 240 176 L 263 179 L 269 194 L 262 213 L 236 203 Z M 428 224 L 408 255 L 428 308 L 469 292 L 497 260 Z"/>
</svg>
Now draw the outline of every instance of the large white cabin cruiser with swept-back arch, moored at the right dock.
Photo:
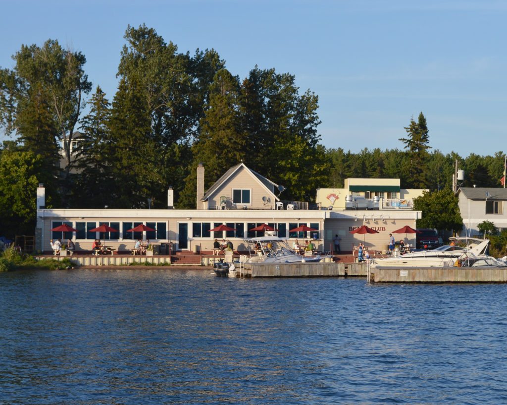
<svg viewBox="0 0 507 405">
<path fill-rule="evenodd" d="M 488 256 L 489 240 L 450 238 L 451 244 L 432 250 L 419 250 L 402 255 L 374 258 L 373 268 L 479 267 L 505 266 L 501 260 Z"/>
</svg>

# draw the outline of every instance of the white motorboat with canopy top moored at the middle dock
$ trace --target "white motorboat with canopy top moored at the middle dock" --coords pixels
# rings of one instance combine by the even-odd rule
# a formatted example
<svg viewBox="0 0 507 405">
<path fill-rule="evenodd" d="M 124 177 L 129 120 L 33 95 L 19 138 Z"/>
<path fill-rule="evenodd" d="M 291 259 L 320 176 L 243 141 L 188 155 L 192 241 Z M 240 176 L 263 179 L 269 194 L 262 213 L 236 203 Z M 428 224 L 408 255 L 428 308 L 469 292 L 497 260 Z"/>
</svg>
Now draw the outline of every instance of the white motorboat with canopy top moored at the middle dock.
<svg viewBox="0 0 507 405">
<path fill-rule="evenodd" d="M 265 236 L 244 239 L 250 253 L 247 263 L 315 263 L 323 256 L 302 256 L 292 249 L 286 238 Z"/>
</svg>

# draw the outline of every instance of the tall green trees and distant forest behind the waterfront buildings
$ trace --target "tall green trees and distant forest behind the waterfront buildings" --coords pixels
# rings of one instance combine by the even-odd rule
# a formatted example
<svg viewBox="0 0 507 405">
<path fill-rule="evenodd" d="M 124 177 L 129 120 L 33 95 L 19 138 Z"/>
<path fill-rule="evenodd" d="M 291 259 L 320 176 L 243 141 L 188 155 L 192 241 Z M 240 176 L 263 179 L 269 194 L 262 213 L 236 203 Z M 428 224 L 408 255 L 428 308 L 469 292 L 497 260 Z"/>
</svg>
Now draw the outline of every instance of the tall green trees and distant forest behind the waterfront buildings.
<svg viewBox="0 0 507 405">
<path fill-rule="evenodd" d="M 165 208 L 172 186 L 176 208 L 195 208 L 200 162 L 206 188 L 243 161 L 284 185 L 284 198 L 307 201 L 351 177 L 450 188 L 455 159 L 464 186 L 498 186 L 503 171 L 502 152 L 431 150 L 422 113 L 401 149 L 325 148 L 318 96 L 301 92 L 294 75 L 255 66 L 239 78 L 215 50 L 179 52 L 146 25 L 127 27 L 112 96 L 88 80 L 86 57 L 56 40 L 22 45 L 13 59 L 12 70 L 0 70 L 0 125 L 12 136 L 0 149 L 4 229 L 33 232 L 38 183 L 47 207 L 144 208 L 150 198 Z"/>
</svg>

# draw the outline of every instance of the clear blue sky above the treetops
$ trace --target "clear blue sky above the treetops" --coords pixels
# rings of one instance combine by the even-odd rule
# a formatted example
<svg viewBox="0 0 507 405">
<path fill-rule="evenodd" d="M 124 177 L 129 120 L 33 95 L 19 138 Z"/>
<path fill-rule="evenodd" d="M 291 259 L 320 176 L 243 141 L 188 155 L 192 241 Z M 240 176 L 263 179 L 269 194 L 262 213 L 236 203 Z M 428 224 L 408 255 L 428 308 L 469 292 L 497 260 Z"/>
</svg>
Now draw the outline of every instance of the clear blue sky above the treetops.
<svg viewBox="0 0 507 405">
<path fill-rule="evenodd" d="M 505 1 L 24 1 L 2 6 L 0 66 L 48 39 L 81 51 L 112 100 L 127 25 L 180 52 L 215 49 L 242 79 L 257 64 L 319 96 L 327 148 L 398 148 L 422 111 L 430 146 L 493 155 L 507 110 Z"/>
</svg>

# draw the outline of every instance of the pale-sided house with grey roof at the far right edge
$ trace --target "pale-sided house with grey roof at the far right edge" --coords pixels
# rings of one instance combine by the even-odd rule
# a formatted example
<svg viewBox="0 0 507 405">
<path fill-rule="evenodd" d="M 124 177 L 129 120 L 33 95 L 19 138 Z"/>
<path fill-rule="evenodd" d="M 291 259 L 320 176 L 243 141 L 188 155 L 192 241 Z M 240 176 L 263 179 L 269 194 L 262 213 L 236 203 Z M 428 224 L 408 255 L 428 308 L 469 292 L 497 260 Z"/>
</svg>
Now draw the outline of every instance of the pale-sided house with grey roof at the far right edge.
<svg viewBox="0 0 507 405">
<path fill-rule="evenodd" d="M 507 229 L 507 189 L 492 187 L 460 187 L 456 192 L 463 219 L 460 235 L 479 235 L 478 225 L 490 221 L 499 229 Z"/>
</svg>

